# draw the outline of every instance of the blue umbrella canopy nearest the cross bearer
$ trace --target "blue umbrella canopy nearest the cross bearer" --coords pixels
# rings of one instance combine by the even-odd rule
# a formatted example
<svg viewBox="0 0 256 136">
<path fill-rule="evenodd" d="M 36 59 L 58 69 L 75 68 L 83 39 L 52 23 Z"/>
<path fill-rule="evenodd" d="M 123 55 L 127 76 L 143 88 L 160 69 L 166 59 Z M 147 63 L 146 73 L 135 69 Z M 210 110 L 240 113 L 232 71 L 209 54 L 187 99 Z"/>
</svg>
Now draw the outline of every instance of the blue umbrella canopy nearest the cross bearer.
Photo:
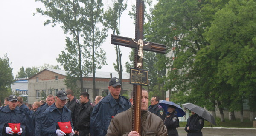
<svg viewBox="0 0 256 136">
<path fill-rule="evenodd" d="M 166 115 L 168 114 L 167 112 L 167 108 L 168 108 L 168 105 L 173 105 L 175 107 L 177 107 L 175 109 L 175 111 L 177 111 L 177 116 L 178 117 L 182 117 L 184 116 L 186 113 L 182 110 L 182 108 L 180 107 L 180 105 L 174 103 L 174 102 L 169 102 L 169 101 L 166 101 L 166 100 L 160 100 L 159 101 L 159 105 L 163 107 L 163 110 L 165 111 Z"/>
</svg>

